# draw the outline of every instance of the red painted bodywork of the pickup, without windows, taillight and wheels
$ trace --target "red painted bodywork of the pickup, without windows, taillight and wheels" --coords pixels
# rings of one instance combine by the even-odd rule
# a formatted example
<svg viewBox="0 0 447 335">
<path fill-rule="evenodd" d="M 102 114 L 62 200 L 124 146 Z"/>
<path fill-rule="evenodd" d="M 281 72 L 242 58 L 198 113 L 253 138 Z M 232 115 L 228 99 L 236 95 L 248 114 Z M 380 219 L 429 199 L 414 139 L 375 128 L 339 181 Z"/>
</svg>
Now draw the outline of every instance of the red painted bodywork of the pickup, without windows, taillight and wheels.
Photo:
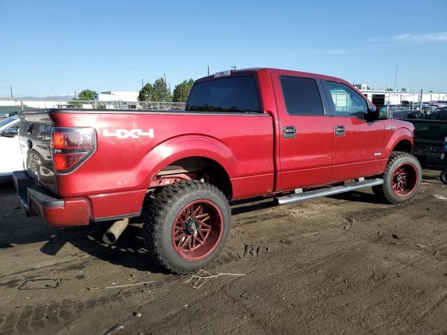
<svg viewBox="0 0 447 335">
<path fill-rule="evenodd" d="M 381 174 L 397 144 L 413 143 L 413 126 L 403 121 L 367 122 L 332 117 L 328 112 L 324 116 L 287 114 L 279 75 L 330 80 L 353 88 L 344 80 L 268 68 L 237 70 L 231 75 L 256 78 L 261 113 L 49 110 L 22 114 L 25 168 L 31 151 L 27 140 L 31 139 L 41 168 L 38 176 L 28 173 L 65 202 L 64 209 L 41 209 L 45 213 L 41 216 L 51 225 L 82 225 L 137 215 L 156 175 L 182 158 L 205 157 L 219 164 L 230 179 L 232 198 L 242 199 Z M 29 135 L 31 123 L 34 130 Z M 286 139 L 283 126 L 291 125 L 296 126 L 297 136 Z M 344 137 L 335 136 L 338 125 L 345 126 Z M 96 151 L 73 172 L 54 172 L 48 137 L 52 127 L 94 128 Z M 105 136 L 104 130 L 119 129 L 153 129 L 154 137 Z M 79 213 L 82 220 L 74 216 Z"/>
</svg>

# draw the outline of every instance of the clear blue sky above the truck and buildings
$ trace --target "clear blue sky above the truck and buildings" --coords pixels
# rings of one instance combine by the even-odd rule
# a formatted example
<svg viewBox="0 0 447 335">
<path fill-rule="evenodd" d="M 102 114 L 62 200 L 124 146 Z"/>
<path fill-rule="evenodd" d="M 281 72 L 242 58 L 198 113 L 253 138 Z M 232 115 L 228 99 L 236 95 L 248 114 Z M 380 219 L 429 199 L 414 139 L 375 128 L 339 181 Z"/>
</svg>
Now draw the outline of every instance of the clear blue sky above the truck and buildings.
<svg viewBox="0 0 447 335">
<path fill-rule="evenodd" d="M 0 97 L 270 67 L 447 91 L 447 1 L 0 0 Z M 395 85 L 396 66 L 397 80 Z"/>
</svg>

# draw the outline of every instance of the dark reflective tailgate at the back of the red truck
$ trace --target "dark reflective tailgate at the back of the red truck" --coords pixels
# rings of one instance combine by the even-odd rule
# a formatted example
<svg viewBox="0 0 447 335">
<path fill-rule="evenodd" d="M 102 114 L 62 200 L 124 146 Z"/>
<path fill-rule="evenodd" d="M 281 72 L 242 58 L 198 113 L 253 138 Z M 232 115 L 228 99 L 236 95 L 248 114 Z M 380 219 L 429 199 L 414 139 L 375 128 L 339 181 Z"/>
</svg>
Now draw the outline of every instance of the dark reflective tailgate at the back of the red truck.
<svg viewBox="0 0 447 335">
<path fill-rule="evenodd" d="M 56 193 L 56 177 L 51 158 L 52 119 L 46 110 L 20 114 L 20 147 L 27 174 Z"/>
</svg>

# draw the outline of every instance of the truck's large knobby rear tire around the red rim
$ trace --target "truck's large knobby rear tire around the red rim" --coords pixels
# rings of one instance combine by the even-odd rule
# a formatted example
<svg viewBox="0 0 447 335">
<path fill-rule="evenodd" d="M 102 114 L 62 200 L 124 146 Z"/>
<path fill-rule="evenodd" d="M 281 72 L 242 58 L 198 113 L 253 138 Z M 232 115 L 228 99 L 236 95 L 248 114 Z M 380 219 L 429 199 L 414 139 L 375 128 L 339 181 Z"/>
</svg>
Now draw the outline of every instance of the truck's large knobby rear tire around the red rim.
<svg viewBox="0 0 447 335">
<path fill-rule="evenodd" d="M 199 211 L 200 205 L 203 209 Z M 208 232 L 205 232 L 205 223 L 199 219 L 205 214 L 193 216 L 191 213 L 187 220 L 184 219 L 190 213 L 189 207 L 191 212 L 197 209 L 198 214 L 210 213 Z M 230 234 L 231 211 L 225 195 L 217 187 L 200 181 L 179 181 L 155 194 L 155 199 L 143 211 L 143 222 L 145 246 L 152 262 L 174 274 L 187 274 L 207 267 L 221 253 Z M 184 231 L 179 231 L 179 225 Z M 191 232 L 194 229 L 194 233 Z M 200 229 L 204 233 L 198 231 Z M 179 239 L 176 234 L 182 234 L 182 237 Z M 196 241 L 200 238 L 203 244 Z M 179 239 L 178 245 L 176 239 Z M 190 244 L 196 248 L 186 250 Z M 202 247 L 203 251 L 200 251 Z M 210 249 L 207 251 L 207 248 Z"/>
</svg>

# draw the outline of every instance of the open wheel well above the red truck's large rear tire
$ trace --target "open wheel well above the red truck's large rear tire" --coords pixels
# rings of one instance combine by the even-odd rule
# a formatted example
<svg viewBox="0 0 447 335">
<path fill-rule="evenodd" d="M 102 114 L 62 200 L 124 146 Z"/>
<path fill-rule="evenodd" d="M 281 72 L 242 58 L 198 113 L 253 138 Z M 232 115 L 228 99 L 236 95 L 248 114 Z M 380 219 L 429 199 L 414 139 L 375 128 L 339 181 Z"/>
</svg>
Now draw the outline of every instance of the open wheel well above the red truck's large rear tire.
<svg viewBox="0 0 447 335">
<path fill-rule="evenodd" d="M 233 197 L 233 188 L 226 170 L 210 158 L 188 157 L 179 159 L 163 168 L 156 175 L 156 179 L 154 179 L 156 182 L 152 181 L 151 186 L 165 186 L 179 179 L 205 181 L 219 188 L 228 199 Z M 161 182 L 163 180 L 167 182 Z"/>
</svg>

